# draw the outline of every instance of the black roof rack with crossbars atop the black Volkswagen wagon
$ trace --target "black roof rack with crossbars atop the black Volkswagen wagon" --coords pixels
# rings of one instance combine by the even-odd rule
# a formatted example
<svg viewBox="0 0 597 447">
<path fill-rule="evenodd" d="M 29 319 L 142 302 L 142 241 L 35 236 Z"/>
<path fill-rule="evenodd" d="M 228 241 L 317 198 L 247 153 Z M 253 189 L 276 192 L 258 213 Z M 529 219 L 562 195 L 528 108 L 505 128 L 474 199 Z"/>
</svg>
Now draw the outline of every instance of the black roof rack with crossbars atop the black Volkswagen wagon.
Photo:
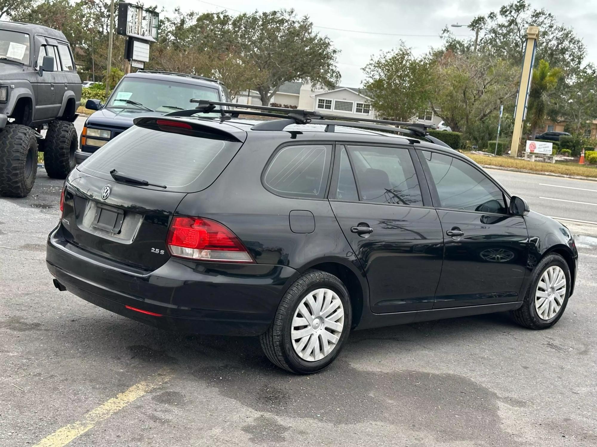
<svg viewBox="0 0 597 447">
<path fill-rule="evenodd" d="M 393 132 L 396 134 L 408 134 L 423 137 L 432 141 L 432 137 L 427 133 L 427 129 L 435 129 L 435 125 L 428 125 L 425 123 L 407 123 L 401 121 L 391 120 L 376 120 L 368 118 L 353 118 L 339 115 L 322 114 L 316 110 L 302 110 L 299 108 L 285 108 L 285 107 L 271 107 L 269 105 L 253 105 L 253 104 L 236 104 L 224 103 L 221 101 L 209 101 L 192 99 L 191 103 L 199 104 L 194 109 L 176 110 L 166 114 L 165 116 L 192 116 L 198 113 L 220 113 L 230 114 L 232 117 L 238 117 L 239 114 L 267 116 L 280 118 L 278 120 L 271 120 L 254 125 L 251 129 L 254 131 L 283 131 L 290 124 L 319 124 L 327 125 L 326 132 L 334 132 L 334 126 L 346 126 L 360 129 L 372 129 L 382 132 Z M 216 108 L 217 105 L 234 107 L 233 109 Z M 237 110 L 253 109 L 253 110 Z M 263 110 L 263 111 L 260 111 Z M 272 113 L 282 112 L 282 113 Z M 386 126 L 383 126 L 383 125 Z M 392 126 L 387 126 L 392 125 Z M 406 127 L 406 128 L 405 128 Z M 433 138 L 432 142 L 435 142 Z"/>
</svg>

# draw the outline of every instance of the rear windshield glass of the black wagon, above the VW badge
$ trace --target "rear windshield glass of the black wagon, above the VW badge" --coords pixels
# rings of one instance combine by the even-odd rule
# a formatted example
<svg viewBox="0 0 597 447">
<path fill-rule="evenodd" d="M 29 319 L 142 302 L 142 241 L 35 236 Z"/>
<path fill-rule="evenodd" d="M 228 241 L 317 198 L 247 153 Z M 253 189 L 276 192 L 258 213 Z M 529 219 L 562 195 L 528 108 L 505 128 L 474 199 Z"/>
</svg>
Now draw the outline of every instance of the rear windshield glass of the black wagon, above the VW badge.
<svg viewBox="0 0 597 447">
<path fill-rule="evenodd" d="M 216 138 L 133 126 L 81 163 L 79 170 L 114 181 L 110 170 L 116 169 L 122 175 L 165 185 L 168 191 L 193 193 L 211 185 L 242 145 Z"/>
</svg>

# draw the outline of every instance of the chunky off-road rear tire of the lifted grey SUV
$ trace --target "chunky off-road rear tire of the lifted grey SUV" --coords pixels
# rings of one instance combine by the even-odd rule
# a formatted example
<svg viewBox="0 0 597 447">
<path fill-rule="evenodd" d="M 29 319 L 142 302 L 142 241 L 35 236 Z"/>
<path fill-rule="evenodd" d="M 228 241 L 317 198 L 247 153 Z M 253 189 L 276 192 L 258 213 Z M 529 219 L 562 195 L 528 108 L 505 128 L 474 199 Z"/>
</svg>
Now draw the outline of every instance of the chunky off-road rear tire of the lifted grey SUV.
<svg viewBox="0 0 597 447">
<path fill-rule="evenodd" d="M 76 166 L 79 145 L 73 123 L 56 120 L 48 125 L 44 142 L 44 166 L 50 178 L 65 179 Z"/>
</svg>

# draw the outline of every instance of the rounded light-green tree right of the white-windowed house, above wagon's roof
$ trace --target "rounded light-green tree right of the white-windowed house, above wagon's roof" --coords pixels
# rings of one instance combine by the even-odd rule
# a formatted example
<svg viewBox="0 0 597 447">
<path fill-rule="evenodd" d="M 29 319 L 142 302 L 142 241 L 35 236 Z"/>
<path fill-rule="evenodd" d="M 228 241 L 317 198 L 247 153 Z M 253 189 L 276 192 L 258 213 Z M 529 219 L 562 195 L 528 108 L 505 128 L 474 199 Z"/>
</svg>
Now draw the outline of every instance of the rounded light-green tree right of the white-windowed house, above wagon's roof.
<svg viewBox="0 0 597 447">
<path fill-rule="evenodd" d="M 429 63 L 413 56 L 404 42 L 364 67 L 364 88 L 380 116 L 408 121 L 429 103 Z"/>
</svg>

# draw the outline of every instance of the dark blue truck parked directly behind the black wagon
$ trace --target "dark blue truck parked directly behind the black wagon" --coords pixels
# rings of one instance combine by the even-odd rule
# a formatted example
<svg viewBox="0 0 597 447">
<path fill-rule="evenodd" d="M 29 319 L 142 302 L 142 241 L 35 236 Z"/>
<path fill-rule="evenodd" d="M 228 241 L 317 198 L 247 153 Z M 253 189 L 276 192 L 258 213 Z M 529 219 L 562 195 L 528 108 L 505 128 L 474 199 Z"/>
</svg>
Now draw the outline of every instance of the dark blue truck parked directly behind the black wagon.
<svg viewBox="0 0 597 447">
<path fill-rule="evenodd" d="M 136 117 L 193 108 L 194 104 L 189 102 L 193 98 L 230 100 L 223 83 L 208 77 L 157 71 L 139 71 L 122 77 L 106 104 L 87 101 L 85 107 L 96 112 L 85 122 L 81 151 L 75 153 L 77 163 L 133 126 Z"/>
</svg>

